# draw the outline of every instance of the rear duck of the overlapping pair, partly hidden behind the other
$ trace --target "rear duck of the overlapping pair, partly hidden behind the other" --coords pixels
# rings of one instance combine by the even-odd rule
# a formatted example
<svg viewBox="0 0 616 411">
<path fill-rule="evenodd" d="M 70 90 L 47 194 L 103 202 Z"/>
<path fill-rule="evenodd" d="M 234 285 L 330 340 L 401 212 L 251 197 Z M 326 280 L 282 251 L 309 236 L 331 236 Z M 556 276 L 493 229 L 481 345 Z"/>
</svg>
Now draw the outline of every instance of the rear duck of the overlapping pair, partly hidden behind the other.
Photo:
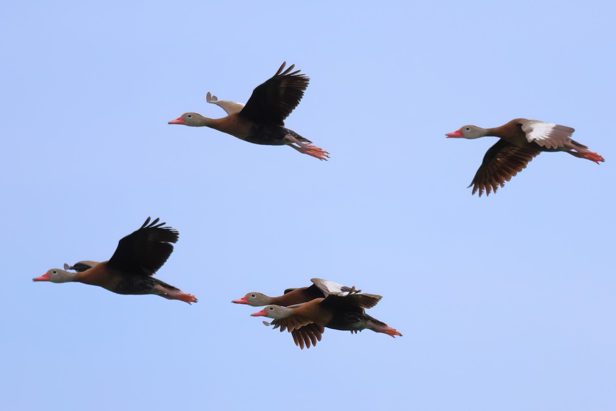
<svg viewBox="0 0 616 411">
<path fill-rule="evenodd" d="M 312 285 L 310 285 L 310 287 L 288 288 L 285 290 L 283 295 L 278 297 L 268 297 L 267 295 L 261 293 L 248 293 L 242 298 L 234 299 L 231 302 L 236 304 L 248 304 L 253 307 L 267 306 L 269 304 L 286 307 L 293 304 L 306 303 L 306 301 L 310 301 L 315 298 L 325 298 L 331 294 L 344 296 L 362 291 L 355 290 L 355 287 L 346 287 L 344 285 L 322 279 L 311 279 L 310 281 L 312 281 Z M 379 299 L 381 299 L 381 296 L 377 295 L 373 297 L 378 297 L 374 304 L 376 305 Z"/>
</svg>

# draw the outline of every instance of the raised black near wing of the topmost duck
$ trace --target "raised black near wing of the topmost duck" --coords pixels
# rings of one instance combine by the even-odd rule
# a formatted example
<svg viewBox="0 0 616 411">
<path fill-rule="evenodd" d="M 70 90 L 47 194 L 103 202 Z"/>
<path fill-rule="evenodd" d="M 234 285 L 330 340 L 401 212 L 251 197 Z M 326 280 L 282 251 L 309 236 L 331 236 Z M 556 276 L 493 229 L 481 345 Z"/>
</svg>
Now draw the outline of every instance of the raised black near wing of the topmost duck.
<svg viewBox="0 0 616 411">
<path fill-rule="evenodd" d="M 274 77 L 254 89 L 253 95 L 238 113 L 239 116 L 278 126 L 285 125 L 285 118 L 298 107 L 310 81 L 306 75 L 298 74 L 299 70 L 291 73 L 294 64 L 283 71 L 285 65 L 286 62 L 282 63 Z"/>
</svg>

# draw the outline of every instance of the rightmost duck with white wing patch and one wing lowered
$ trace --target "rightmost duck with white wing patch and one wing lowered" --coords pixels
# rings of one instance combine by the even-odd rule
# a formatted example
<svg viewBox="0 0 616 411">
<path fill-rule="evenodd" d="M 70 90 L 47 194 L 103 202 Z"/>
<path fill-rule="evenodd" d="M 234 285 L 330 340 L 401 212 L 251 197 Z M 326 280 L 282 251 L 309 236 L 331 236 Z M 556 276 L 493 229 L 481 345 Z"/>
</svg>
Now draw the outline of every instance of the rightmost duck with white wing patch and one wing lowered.
<svg viewBox="0 0 616 411">
<path fill-rule="evenodd" d="M 586 158 L 599 164 L 603 157 L 588 150 L 586 145 L 571 139 L 575 129 L 559 124 L 538 120 L 516 118 L 495 128 L 463 126 L 458 131 L 445 134 L 447 137 L 477 139 L 479 137 L 500 137 L 500 140 L 485 153 L 484 161 L 477 170 L 469 187 L 472 194 L 479 190 L 479 197 L 485 190 L 490 195 L 498 186 L 505 187 L 540 152 L 564 151 L 575 157 Z"/>
</svg>

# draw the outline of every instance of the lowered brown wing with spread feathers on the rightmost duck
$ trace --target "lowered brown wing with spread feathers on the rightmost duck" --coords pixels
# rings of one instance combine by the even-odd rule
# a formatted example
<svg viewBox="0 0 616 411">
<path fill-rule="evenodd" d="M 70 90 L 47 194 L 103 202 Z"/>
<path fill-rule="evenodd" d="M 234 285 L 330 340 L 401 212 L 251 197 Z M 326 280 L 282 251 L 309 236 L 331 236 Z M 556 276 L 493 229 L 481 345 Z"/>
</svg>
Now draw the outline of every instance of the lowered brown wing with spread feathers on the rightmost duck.
<svg viewBox="0 0 616 411">
<path fill-rule="evenodd" d="M 490 195 L 496 192 L 498 186 L 505 187 L 505 181 L 526 168 L 530 160 L 537 157 L 540 153 L 535 144 L 519 147 L 506 140 L 500 139 L 495 145 L 485 153 L 484 161 L 477 170 L 469 187 L 472 187 L 472 194 L 479 190 L 479 197 L 482 193 Z"/>
</svg>

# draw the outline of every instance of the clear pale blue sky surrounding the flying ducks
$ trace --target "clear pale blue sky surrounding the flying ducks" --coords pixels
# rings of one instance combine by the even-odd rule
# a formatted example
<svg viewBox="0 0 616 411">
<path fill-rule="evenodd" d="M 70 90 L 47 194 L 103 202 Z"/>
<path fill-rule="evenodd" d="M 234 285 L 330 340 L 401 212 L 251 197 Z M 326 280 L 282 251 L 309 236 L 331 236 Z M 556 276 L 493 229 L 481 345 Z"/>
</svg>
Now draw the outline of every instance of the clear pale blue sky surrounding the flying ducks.
<svg viewBox="0 0 616 411">
<path fill-rule="evenodd" d="M 614 5 L 12 1 L 0 13 L 2 406 L 10 410 L 614 410 Z M 286 126 L 331 153 L 172 126 L 221 117 L 286 60 Z M 600 166 L 542 153 L 471 182 L 517 117 Z M 188 306 L 52 267 L 110 258 L 147 216 Z M 231 304 L 321 277 L 383 295 L 400 330 L 299 350 Z"/>
</svg>

